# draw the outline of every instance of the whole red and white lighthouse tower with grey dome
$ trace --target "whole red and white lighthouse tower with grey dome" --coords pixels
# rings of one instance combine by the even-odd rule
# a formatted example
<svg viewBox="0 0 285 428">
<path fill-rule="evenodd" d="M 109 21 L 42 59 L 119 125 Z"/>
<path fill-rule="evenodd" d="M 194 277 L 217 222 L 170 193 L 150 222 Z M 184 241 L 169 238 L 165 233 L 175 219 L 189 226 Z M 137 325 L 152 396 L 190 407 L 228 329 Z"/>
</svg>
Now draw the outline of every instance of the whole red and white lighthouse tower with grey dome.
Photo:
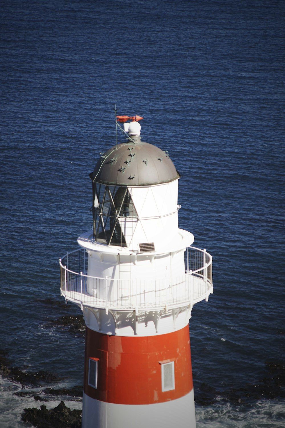
<svg viewBox="0 0 285 428">
<path fill-rule="evenodd" d="M 60 259 L 86 324 L 82 428 L 196 426 L 189 319 L 213 292 L 212 256 L 179 229 L 180 174 L 141 119 L 116 116 L 123 142 L 89 174 L 93 228 Z"/>
</svg>

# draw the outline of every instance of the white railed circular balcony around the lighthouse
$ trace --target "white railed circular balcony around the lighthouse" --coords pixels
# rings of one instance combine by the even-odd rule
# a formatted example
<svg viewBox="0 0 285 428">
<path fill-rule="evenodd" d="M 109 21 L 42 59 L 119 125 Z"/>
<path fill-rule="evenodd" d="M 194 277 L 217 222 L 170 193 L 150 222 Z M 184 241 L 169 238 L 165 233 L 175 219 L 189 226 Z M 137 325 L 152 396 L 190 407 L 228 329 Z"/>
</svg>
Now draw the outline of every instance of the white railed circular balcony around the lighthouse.
<svg viewBox="0 0 285 428">
<path fill-rule="evenodd" d="M 112 279 L 87 275 L 88 254 L 83 248 L 59 259 L 61 294 L 66 300 L 94 308 L 153 310 L 177 308 L 208 300 L 213 292 L 212 256 L 188 247 L 185 273 L 159 279 Z"/>
</svg>

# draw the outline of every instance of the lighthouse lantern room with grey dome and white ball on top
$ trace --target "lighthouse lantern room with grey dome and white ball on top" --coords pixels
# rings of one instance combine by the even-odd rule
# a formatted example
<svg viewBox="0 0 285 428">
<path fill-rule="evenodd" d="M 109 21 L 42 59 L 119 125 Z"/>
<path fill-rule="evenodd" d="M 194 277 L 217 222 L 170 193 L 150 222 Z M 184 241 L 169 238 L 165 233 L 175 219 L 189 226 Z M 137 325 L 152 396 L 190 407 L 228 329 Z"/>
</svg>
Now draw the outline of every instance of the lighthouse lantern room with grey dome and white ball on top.
<svg viewBox="0 0 285 428">
<path fill-rule="evenodd" d="M 179 239 L 180 175 L 167 150 L 141 140 L 138 122 L 125 125 L 127 141 L 101 153 L 90 174 L 93 238 L 135 252 L 165 248 Z"/>
</svg>

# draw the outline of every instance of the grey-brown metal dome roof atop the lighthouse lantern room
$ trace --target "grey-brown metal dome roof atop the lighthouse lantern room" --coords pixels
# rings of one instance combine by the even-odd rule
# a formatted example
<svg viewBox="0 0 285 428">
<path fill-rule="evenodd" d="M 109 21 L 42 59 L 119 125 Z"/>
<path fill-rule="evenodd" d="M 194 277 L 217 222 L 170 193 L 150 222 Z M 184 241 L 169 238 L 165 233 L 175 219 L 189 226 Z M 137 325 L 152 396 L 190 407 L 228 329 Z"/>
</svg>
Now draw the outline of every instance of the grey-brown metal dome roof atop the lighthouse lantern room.
<svg viewBox="0 0 285 428">
<path fill-rule="evenodd" d="M 107 150 L 89 175 L 98 183 L 118 186 L 168 183 L 180 177 L 167 151 L 144 143 L 139 136 Z"/>
</svg>

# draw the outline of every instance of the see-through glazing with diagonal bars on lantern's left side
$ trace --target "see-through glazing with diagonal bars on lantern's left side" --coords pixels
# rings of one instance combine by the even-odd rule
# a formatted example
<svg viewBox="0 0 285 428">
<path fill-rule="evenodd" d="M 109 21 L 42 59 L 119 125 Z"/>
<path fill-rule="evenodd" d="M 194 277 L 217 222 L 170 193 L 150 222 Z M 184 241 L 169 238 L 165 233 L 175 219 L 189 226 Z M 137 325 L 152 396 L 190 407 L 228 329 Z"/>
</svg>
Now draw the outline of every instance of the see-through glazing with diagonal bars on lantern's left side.
<svg viewBox="0 0 285 428">
<path fill-rule="evenodd" d="M 126 246 L 121 224 L 127 217 L 138 217 L 127 187 L 93 183 L 94 239 L 108 245 Z"/>
</svg>

